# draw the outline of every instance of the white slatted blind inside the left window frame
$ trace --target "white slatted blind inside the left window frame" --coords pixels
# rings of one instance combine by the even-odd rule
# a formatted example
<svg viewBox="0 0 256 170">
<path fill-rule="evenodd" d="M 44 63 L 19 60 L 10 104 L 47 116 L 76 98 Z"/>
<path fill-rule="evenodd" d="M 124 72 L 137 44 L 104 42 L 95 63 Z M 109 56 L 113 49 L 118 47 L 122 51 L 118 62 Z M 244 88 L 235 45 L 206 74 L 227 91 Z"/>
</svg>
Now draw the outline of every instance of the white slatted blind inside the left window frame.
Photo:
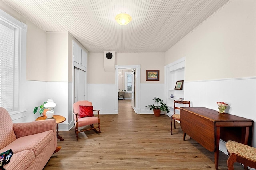
<svg viewBox="0 0 256 170">
<path fill-rule="evenodd" d="M 15 28 L 0 22 L 0 107 L 8 111 L 14 109 L 14 66 Z"/>
</svg>

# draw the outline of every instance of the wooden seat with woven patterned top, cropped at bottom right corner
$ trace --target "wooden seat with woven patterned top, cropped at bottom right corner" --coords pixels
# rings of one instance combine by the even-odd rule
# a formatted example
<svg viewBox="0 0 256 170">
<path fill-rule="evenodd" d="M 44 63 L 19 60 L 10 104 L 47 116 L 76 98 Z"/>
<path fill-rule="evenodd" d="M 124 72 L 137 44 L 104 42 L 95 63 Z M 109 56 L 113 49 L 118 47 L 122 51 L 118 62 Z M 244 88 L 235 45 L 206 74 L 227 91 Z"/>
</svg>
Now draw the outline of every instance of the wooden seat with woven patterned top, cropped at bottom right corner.
<svg viewBox="0 0 256 170">
<path fill-rule="evenodd" d="M 235 141 L 228 141 L 226 148 L 229 155 L 228 170 L 234 170 L 235 162 L 243 164 L 245 170 L 248 170 L 248 166 L 256 168 L 256 148 Z"/>
</svg>

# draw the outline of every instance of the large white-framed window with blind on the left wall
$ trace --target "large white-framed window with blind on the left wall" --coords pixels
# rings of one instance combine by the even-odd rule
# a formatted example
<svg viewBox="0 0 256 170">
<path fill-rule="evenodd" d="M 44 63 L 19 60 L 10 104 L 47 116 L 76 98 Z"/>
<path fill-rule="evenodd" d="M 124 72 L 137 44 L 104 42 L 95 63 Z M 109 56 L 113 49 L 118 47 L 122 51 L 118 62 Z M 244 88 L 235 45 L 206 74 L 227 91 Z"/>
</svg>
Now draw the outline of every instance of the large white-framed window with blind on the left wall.
<svg viewBox="0 0 256 170">
<path fill-rule="evenodd" d="M 0 107 L 9 113 L 25 108 L 26 29 L 0 10 Z"/>
</svg>

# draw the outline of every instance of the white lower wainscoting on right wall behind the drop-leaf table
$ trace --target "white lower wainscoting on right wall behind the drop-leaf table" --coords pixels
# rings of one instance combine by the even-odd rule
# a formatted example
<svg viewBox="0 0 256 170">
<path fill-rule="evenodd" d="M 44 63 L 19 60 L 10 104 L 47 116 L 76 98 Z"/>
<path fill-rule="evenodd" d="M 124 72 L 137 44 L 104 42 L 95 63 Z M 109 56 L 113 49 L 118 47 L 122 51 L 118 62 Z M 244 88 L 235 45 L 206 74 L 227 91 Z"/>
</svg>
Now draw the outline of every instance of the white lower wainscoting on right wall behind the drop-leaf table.
<svg viewBox="0 0 256 170">
<path fill-rule="evenodd" d="M 207 107 L 217 111 L 216 102 L 225 102 L 229 105 L 226 113 L 256 121 L 255 77 L 186 82 L 185 99 L 190 100 L 190 107 Z M 253 131 L 252 144 L 256 147 L 255 125 Z M 224 142 L 220 145 L 224 145 Z"/>
</svg>

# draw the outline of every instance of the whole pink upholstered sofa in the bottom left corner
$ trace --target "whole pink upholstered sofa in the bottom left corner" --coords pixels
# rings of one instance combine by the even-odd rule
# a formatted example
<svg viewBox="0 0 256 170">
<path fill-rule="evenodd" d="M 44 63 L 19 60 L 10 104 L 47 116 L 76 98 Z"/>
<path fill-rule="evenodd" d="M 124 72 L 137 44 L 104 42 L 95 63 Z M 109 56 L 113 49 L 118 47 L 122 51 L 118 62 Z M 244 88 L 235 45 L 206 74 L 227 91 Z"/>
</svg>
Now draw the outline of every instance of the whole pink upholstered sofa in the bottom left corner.
<svg viewBox="0 0 256 170">
<path fill-rule="evenodd" d="M 12 149 L 6 170 L 42 170 L 57 150 L 56 120 L 12 123 L 0 107 L 0 153 Z"/>
</svg>

